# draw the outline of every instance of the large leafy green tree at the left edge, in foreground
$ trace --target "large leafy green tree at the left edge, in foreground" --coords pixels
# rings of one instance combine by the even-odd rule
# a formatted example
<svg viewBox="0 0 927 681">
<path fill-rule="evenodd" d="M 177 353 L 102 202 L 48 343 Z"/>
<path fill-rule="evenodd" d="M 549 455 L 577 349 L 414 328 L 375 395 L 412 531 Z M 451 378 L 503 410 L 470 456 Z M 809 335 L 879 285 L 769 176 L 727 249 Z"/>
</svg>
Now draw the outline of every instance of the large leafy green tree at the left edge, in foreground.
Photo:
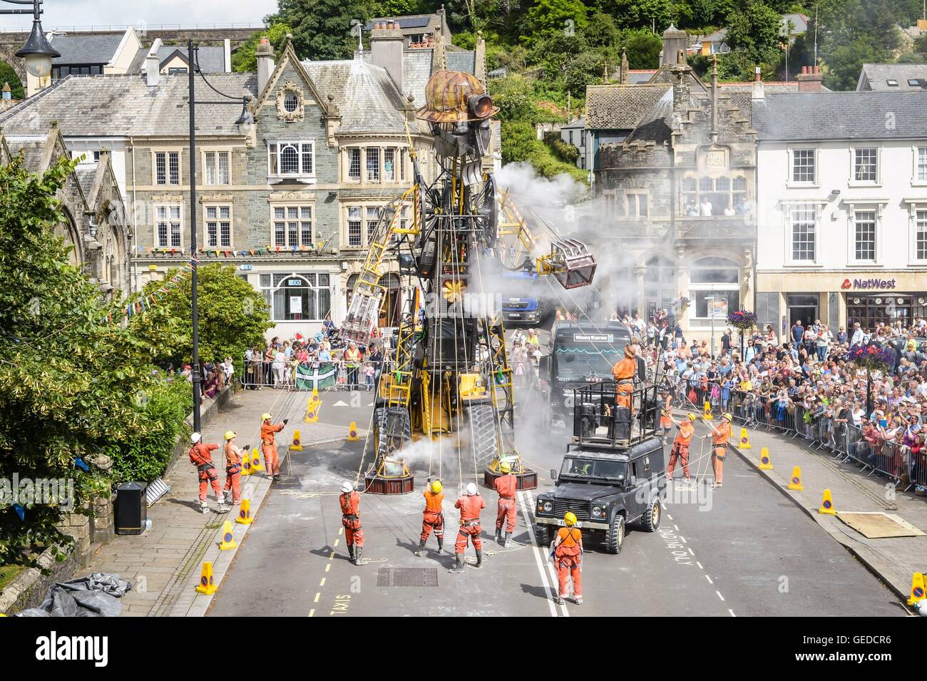
<svg viewBox="0 0 927 681">
<path fill-rule="evenodd" d="M 55 195 L 75 161 L 31 173 L 21 156 L 0 167 L 0 480 L 75 480 L 75 508 L 108 488 L 93 455 L 140 426 L 137 391 L 149 381 L 146 348 L 108 322 L 99 289 L 68 263 L 54 233 L 68 218 Z M 8 491 L 8 490 L 7 490 Z M 0 494 L 0 564 L 33 564 L 44 547 L 70 541 L 60 506 Z"/>
</svg>

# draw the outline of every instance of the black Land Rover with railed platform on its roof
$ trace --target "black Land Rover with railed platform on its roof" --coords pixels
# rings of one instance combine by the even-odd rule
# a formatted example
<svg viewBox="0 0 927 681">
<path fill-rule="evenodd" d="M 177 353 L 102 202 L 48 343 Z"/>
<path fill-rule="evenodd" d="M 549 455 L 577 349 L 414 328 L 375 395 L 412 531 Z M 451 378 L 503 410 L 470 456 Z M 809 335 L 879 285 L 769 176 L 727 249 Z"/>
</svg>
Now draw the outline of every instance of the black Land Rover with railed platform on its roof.
<svg viewBox="0 0 927 681">
<path fill-rule="evenodd" d="M 573 442 L 560 472 L 551 471 L 556 487 L 538 496 L 534 510 L 539 545 L 550 544 L 567 511 L 584 534 L 602 535 L 609 553 L 621 552 L 629 523 L 646 532 L 659 527 L 666 462 L 655 386 L 635 390 L 631 404 L 616 407 L 611 382 L 576 390 Z"/>
</svg>

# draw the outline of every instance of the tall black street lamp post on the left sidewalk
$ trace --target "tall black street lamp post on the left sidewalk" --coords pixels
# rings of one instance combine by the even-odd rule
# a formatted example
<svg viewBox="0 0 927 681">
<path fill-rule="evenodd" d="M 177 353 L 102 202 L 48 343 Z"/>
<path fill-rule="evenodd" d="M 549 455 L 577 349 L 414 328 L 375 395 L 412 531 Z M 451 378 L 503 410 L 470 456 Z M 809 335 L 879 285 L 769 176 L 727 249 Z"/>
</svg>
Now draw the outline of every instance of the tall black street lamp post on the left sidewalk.
<svg viewBox="0 0 927 681">
<path fill-rule="evenodd" d="M 193 322 L 193 430 L 195 433 L 199 433 L 202 428 L 202 414 L 200 412 L 200 397 L 202 394 L 200 383 L 202 379 L 199 373 L 199 301 L 197 296 L 197 104 L 233 104 L 240 102 L 242 111 L 235 123 L 246 136 L 250 134 L 250 127 L 254 125 L 254 118 L 251 116 L 251 112 L 248 111 L 248 99 L 250 99 L 248 95 L 242 97 L 225 95 L 212 87 L 210 82 L 206 80 L 206 76 L 203 75 L 197 64 L 197 46 L 193 44 L 192 40 L 188 40 L 186 43 L 186 54 L 187 95 L 190 103 L 190 310 Z M 199 77 L 210 87 L 210 90 L 225 97 L 225 100 L 197 102 L 194 88 L 196 71 L 199 72 Z"/>
</svg>

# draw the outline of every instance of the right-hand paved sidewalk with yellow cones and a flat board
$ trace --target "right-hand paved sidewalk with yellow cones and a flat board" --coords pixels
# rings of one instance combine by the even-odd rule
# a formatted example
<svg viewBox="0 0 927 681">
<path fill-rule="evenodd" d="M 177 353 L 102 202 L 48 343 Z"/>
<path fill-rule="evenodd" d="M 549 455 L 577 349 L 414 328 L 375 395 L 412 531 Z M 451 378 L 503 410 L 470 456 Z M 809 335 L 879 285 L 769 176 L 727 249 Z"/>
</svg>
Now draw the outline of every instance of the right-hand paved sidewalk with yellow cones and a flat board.
<svg viewBox="0 0 927 681">
<path fill-rule="evenodd" d="M 733 430 L 735 438 L 738 437 L 740 425 L 735 423 Z M 913 492 L 895 492 L 887 479 L 874 474 L 867 477 L 856 466 L 834 460 L 826 450 L 812 450 L 800 437 L 792 440 L 764 430 L 750 430 L 749 434 L 752 448 L 735 451 L 758 468 L 760 451 L 767 447 L 773 470 L 759 473 L 878 574 L 898 596 L 908 599 L 911 576 L 927 571 L 927 536 L 867 539 L 838 518 L 820 514 L 818 509 L 824 489 L 829 488 L 838 513 L 882 511 L 900 516 L 921 532 L 927 532 L 927 499 L 915 497 Z M 801 466 L 804 491 L 787 489 L 794 466 Z"/>
</svg>

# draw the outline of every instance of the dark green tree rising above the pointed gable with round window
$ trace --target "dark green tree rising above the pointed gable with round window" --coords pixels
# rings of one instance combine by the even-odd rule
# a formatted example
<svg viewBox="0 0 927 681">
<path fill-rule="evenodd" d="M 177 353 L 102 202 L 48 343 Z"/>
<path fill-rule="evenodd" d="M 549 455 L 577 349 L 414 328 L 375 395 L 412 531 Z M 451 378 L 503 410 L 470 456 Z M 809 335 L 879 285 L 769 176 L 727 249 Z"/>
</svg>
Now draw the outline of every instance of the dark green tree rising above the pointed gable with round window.
<svg viewBox="0 0 927 681">
<path fill-rule="evenodd" d="M 271 23 L 293 29 L 293 47 L 302 59 L 345 59 L 357 49 L 351 27 L 374 16 L 371 0 L 280 0 Z"/>
</svg>

